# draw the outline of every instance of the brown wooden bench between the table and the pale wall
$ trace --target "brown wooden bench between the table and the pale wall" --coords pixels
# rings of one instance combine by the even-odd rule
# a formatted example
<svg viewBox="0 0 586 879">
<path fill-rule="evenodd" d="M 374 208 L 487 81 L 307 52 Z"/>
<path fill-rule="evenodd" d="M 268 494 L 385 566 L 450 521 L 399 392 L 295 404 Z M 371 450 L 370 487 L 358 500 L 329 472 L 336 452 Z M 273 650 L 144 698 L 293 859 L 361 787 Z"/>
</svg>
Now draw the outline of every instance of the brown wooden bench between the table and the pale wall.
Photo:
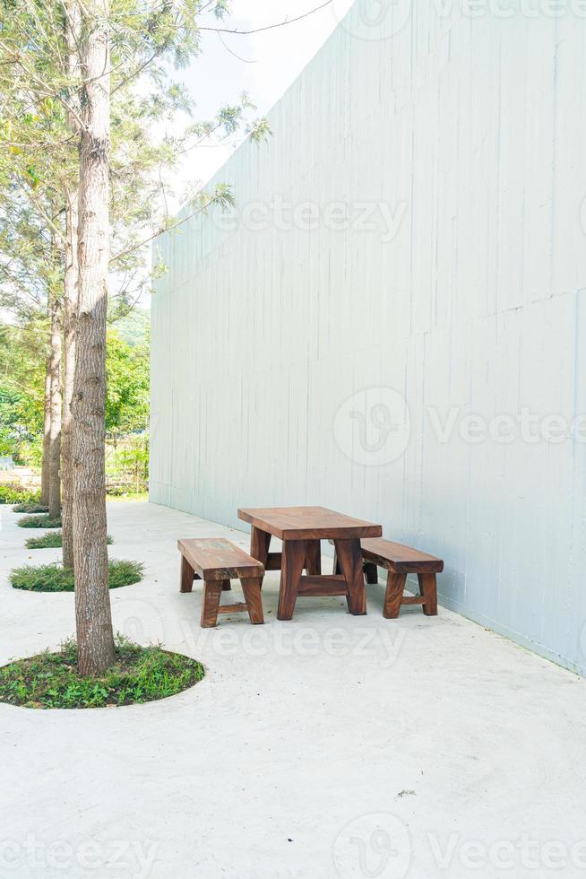
<svg viewBox="0 0 586 879">
<path fill-rule="evenodd" d="M 395 620 L 401 605 L 422 605 L 424 614 L 437 616 L 435 575 L 444 570 L 444 561 L 383 537 L 365 537 L 360 541 L 360 546 L 367 583 L 378 583 L 377 567 L 388 572 L 383 607 L 385 619 Z M 334 557 L 334 572 L 337 570 L 338 562 Z M 408 574 L 418 575 L 418 596 L 403 594 Z"/>
</svg>

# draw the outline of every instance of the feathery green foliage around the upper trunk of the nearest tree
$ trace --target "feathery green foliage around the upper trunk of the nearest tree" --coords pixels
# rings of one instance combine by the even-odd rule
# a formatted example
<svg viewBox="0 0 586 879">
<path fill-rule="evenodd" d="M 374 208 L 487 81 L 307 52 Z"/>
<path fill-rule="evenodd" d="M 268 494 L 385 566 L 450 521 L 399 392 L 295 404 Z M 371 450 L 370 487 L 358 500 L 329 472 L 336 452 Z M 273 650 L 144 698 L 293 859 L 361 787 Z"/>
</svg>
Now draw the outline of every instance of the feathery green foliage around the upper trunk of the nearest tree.
<svg viewBox="0 0 586 879">
<path fill-rule="evenodd" d="M 85 20 L 83 31 L 91 30 L 95 7 L 77 6 Z M 5 241 L 0 233 L 0 252 L 10 255 L 0 274 L 9 265 L 11 282 L 28 294 L 42 279 L 45 296 L 56 282 L 55 261 L 47 258 L 47 249 L 61 247 L 65 193 L 74 191 L 79 171 L 79 137 L 71 120 L 79 119 L 85 83 L 82 65 L 67 61 L 67 8 L 57 0 L 0 0 L 0 210 L 5 193 L 4 209 L 11 213 L 4 223 L 9 230 Z M 211 24 L 207 29 L 213 30 L 228 11 L 228 0 L 109 4 L 110 244 L 119 282 L 115 310 L 151 287 L 150 247 L 145 246 L 160 231 L 183 222 L 172 218 L 168 205 L 179 195 L 172 190 L 173 170 L 185 153 L 218 143 L 241 126 L 253 140 L 268 133 L 266 120 L 251 118 L 255 108 L 246 93 L 210 119 L 194 120 L 195 102 L 176 77 L 200 54 L 202 26 Z M 218 191 L 203 199 L 206 205 L 226 202 Z M 201 205 L 195 213 L 200 210 Z M 21 222 L 23 213 L 29 222 Z"/>
</svg>

